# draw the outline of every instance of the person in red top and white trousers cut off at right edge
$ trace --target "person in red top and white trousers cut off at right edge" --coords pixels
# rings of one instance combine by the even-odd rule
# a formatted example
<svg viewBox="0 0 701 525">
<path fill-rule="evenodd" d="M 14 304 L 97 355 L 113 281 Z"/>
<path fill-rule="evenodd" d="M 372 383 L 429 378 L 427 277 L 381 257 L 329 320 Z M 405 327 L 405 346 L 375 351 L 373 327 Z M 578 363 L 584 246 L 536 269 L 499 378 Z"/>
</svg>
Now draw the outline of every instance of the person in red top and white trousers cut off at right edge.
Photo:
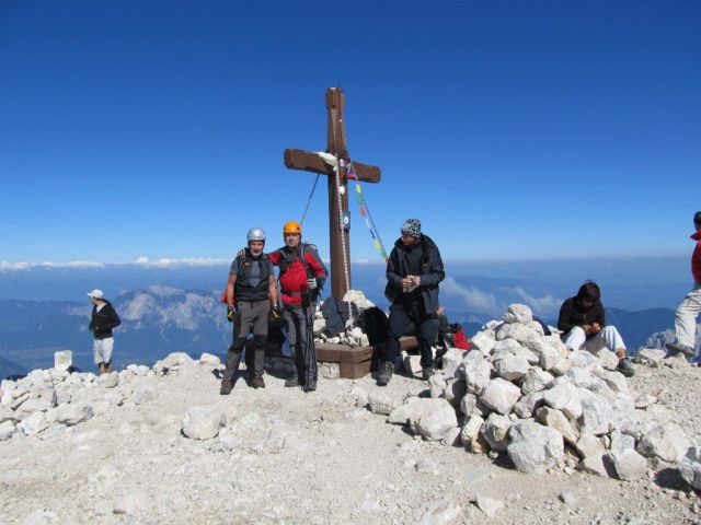
<svg viewBox="0 0 701 525">
<path fill-rule="evenodd" d="M 701 211 L 697 211 L 693 215 L 693 225 L 697 229 L 697 232 L 691 235 L 691 238 L 697 242 L 691 254 L 693 290 L 677 307 L 675 317 L 677 341 L 667 343 L 667 350 L 675 353 L 681 352 L 690 358 L 696 353 L 697 316 L 701 313 Z"/>
</svg>

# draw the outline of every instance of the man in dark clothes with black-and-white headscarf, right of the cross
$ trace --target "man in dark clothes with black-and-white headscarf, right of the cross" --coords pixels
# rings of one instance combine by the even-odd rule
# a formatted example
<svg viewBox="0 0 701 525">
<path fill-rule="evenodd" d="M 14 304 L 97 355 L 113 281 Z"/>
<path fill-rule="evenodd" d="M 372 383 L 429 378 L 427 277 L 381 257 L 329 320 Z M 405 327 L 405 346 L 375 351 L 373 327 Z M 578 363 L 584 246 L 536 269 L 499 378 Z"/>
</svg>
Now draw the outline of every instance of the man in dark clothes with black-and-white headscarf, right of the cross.
<svg viewBox="0 0 701 525">
<path fill-rule="evenodd" d="M 402 225 L 387 260 L 387 288 L 390 300 L 389 337 L 382 355 L 377 384 L 389 383 L 399 353 L 399 338 L 413 325 L 418 339 L 424 380 L 434 375 L 432 345 L 438 335 L 438 283 L 446 277 L 438 246 L 422 234 L 418 219 Z"/>
</svg>

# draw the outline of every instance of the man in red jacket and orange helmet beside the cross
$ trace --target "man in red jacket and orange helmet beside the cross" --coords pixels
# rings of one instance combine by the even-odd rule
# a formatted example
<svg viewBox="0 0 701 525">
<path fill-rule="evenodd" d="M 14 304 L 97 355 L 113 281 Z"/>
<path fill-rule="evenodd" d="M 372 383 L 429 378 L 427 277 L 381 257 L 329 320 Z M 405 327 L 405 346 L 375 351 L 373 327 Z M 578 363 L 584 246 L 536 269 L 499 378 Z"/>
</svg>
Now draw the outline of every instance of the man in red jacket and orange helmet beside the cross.
<svg viewBox="0 0 701 525">
<path fill-rule="evenodd" d="M 268 254 L 271 262 L 280 269 L 280 302 L 287 324 L 287 337 L 296 373 L 285 386 L 302 385 L 304 392 L 317 389 L 317 355 L 314 334 L 314 300 L 326 279 L 326 268 L 317 247 L 301 242 L 302 229 L 290 221 L 283 228 L 285 246 Z"/>
</svg>

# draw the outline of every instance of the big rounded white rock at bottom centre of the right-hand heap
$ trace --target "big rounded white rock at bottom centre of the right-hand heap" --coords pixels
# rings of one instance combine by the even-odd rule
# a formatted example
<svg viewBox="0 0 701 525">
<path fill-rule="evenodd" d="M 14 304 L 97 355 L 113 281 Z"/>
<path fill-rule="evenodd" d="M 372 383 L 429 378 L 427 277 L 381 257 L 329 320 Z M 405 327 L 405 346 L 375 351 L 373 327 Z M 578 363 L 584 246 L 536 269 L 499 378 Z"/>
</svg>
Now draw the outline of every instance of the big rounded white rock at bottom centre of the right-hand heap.
<svg viewBox="0 0 701 525">
<path fill-rule="evenodd" d="M 562 435 L 535 421 L 519 421 L 512 427 L 508 456 L 520 472 L 545 472 L 564 457 Z"/>
</svg>

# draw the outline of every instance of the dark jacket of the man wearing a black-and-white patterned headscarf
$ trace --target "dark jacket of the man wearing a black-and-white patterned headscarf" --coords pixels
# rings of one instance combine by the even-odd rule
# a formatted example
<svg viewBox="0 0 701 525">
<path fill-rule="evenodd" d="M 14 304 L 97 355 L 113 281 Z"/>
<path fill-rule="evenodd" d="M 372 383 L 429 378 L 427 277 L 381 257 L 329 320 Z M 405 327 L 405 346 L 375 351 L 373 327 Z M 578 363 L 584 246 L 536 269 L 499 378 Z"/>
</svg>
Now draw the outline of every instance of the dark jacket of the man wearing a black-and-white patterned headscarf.
<svg viewBox="0 0 701 525">
<path fill-rule="evenodd" d="M 401 237 L 394 243 L 392 253 L 387 260 L 387 288 L 384 296 L 391 303 L 401 303 L 410 300 L 410 294 L 402 291 L 402 279 L 412 275 L 410 266 L 412 265 L 412 252 L 421 250 L 420 268 L 421 287 L 416 290 L 426 308 L 426 313 L 432 315 L 438 311 L 440 306 L 438 302 L 438 283 L 446 278 L 443 267 L 443 259 L 438 246 L 427 235 L 422 235 L 420 244 L 412 248 L 406 248 Z"/>
</svg>

